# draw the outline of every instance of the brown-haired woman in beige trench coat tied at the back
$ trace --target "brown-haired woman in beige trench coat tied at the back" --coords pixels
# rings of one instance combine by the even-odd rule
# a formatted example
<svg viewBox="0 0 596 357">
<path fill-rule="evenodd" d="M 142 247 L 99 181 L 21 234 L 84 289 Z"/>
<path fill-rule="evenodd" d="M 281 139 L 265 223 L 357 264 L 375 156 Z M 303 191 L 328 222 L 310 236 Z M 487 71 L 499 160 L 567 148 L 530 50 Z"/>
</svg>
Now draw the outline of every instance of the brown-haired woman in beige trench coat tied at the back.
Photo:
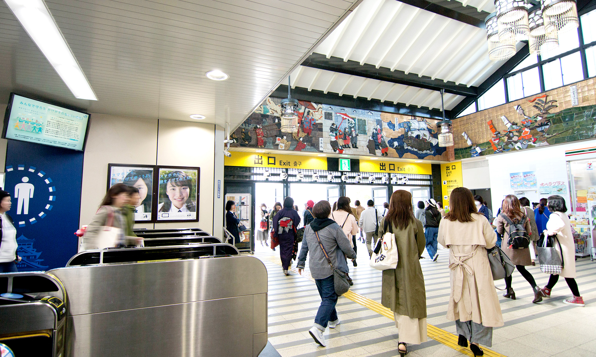
<svg viewBox="0 0 596 357">
<path fill-rule="evenodd" d="M 488 220 L 479 214 L 474 196 L 465 187 L 451 192 L 449 213 L 439 224 L 440 245 L 449 248 L 451 293 L 447 318 L 455 321 L 459 345 L 482 356 L 478 346 L 492 346 L 492 328 L 503 325 L 487 248 L 496 243 Z"/>
</svg>

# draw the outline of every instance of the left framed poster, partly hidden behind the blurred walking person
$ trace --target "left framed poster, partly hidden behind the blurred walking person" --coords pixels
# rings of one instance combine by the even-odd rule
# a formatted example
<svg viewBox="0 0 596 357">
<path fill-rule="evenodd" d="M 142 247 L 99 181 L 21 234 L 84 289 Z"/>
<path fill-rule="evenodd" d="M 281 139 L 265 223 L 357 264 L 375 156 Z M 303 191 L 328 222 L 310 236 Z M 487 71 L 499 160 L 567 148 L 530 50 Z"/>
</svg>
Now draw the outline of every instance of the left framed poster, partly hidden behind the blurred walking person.
<svg viewBox="0 0 596 357">
<path fill-rule="evenodd" d="M 154 222 L 154 179 L 155 166 L 153 165 L 128 165 L 108 164 L 108 187 L 117 183 L 136 187 L 141 196 L 139 204 L 135 207 L 135 223 Z"/>
</svg>

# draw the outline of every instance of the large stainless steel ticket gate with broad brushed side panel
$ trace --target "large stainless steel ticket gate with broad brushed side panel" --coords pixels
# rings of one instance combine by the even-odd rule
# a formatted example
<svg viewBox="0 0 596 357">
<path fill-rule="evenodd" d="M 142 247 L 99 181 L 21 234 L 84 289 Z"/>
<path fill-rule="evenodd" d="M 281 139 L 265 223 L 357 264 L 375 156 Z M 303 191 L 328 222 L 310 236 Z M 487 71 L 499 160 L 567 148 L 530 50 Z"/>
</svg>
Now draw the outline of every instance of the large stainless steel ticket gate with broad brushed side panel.
<svg viewBox="0 0 596 357">
<path fill-rule="evenodd" d="M 189 257 L 207 246 L 212 255 Z M 231 249 L 91 250 L 48 271 L 67 292 L 64 356 L 258 356 L 267 343 L 267 271 L 252 256 L 213 253 Z M 155 261 L 157 251 L 164 260 Z"/>
</svg>

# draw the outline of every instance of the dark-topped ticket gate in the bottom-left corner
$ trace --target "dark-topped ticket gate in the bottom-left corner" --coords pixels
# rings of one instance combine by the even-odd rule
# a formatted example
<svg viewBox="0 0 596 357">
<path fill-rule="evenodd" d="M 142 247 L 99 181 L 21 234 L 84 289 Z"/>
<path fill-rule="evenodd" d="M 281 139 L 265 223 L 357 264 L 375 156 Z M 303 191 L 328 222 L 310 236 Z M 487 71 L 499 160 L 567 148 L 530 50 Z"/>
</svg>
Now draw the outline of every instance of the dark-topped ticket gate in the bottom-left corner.
<svg viewBox="0 0 596 357">
<path fill-rule="evenodd" d="M 0 343 L 19 357 L 62 357 L 64 302 L 64 287 L 51 274 L 0 274 Z"/>
</svg>

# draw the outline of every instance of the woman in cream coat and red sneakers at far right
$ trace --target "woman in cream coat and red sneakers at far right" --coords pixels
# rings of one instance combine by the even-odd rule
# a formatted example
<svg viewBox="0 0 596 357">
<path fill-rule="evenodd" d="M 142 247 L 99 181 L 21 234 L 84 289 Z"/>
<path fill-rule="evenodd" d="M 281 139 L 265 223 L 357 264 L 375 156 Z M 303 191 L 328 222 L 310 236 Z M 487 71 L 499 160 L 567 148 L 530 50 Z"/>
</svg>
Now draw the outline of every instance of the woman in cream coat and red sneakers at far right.
<svg viewBox="0 0 596 357">
<path fill-rule="evenodd" d="M 544 297 L 550 297 L 552 287 L 557 283 L 558 277 L 564 277 L 569 289 L 573 293 L 573 297 L 563 302 L 567 305 L 585 306 L 583 297 L 579 295 L 578 283 L 575 281 L 575 242 L 573 242 L 569 217 L 566 214 L 567 206 L 565 205 L 565 199 L 557 195 L 550 196 L 547 207 L 551 211 L 551 215 L 548 218 L 547 229 L 544 231 L 544 235 L 552 236 L 557 234 L 557 240 L 561 246 L 559 248 L 557 243 L 554 246 L 557 252 L 563 256 L 564 268 L 561 270 L 561 274 L 551 274 L 547 285 L 541 291 Z"/>
</svg>

